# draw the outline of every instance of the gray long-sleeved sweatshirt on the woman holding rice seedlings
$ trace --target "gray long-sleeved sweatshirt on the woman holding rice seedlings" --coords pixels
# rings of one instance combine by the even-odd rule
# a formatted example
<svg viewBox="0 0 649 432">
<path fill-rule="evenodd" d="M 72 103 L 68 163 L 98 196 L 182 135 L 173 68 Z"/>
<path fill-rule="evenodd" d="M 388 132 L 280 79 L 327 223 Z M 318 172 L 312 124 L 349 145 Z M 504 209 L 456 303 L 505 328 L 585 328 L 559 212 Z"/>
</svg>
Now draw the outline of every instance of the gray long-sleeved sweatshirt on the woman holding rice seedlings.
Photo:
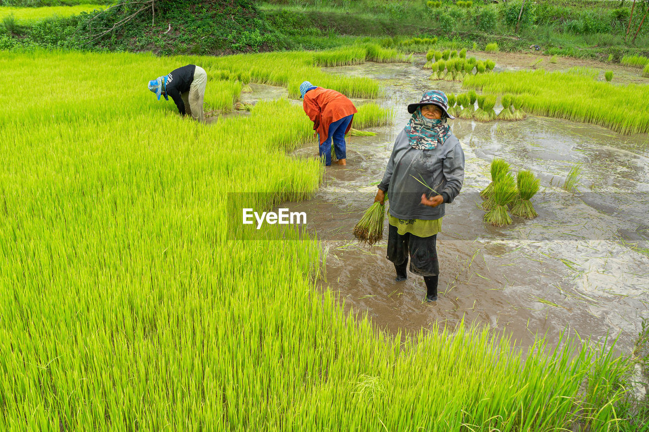
<svg viewBox="0 0 649 432">
<path fill-rule="evenodd" d="M 419 181 L 417 181 L 419 180 Z M 405 130 L 397 136 L 386 174 L 378 185 L 387 191 L 390 214 L 398 219 L 432 221 L 445 214 L 445 204 L 437 207 L 421 204 L 421 195 L 442 195 L 444 202 L 453 202 L 464 181 L 464 152 L 458 138 L 451 134 L 443 145 L 432 150 L 417 150 L 408 143 Z M 432 192 L 427 184 L 437 191 Z"/>
</svg>

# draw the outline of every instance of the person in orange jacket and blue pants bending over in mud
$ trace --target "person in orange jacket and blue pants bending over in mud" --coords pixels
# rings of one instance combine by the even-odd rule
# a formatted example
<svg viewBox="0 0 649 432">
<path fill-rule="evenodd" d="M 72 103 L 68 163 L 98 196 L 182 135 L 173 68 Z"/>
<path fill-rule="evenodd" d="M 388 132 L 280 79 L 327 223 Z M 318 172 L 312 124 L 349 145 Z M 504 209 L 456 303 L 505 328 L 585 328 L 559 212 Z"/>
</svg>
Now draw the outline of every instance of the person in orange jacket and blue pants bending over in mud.
<svg viewBox="0 0 649 432">
<path fill-rule="evenodd" d="M 304 112 L 313 121 L 313 130 L 318 133 L 324 165 L 331 165 L 332 140 L 338 165 L 347 165 L 345 134 L 352 127 L 352 119 L 358 112 L 352 101 L 336 90 L 316 87 L 308 81 L 300 84 L 300 95 L 304 99 Z"/>
</svg>

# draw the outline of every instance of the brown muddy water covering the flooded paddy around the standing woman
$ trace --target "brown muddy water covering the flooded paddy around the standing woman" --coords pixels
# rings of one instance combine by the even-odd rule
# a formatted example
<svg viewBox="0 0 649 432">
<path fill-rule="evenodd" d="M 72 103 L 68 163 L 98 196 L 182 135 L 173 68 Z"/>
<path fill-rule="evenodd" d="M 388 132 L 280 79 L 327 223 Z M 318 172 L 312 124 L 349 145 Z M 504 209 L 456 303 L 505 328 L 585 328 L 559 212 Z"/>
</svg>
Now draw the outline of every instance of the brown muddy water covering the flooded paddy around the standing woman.
<svg viewBox="0 0 649 432">
<path fill-rule="evenodd" d="M 649 318 L 649 256 L 628 243 L 649 247 L 647 136 L 532 116 L 518 122 L 452 121 L 465 151 L 465 183 L 447 205 L 438 235 L 436 303 L 422 302 L 421 277 L 410 274 L 394 282 L 385 239 L 373 247 L 356 243 L 353 226 L 373 202 L 393 140 L 410 117 L 406 105 L 432 88 L 461 91 L 459 82 L 428 80 L 421 64 L 420 59 L 413 65 L 326 69 L 380 80 L 385 90 L 378 103 L 394 108 L 397 120 L 372 129 L 377 136 L 350 137 L 347 166 L 327 168 L 312 200 L 282 205 L 308 213 L 308 227 L 326 252 L 323 287 L 339 292 L 346 309 L 367 313 L 377 326 L 401 331 L 402 337 L 434 322 L 455 326 L 464 319 L 522 345 L 535 335 L 546 335 L 552 344 L 565 329 L 595 340 L 619 335 L 618 348 L 628 352 L 642 318 Z M 257 91 L 273 93 L 267 86 Z M 317 147 L 295 154 L 310 157 Z M 479 192 L 489 183 L 495 156 L 541 178 L 541 191 L 532 200 L 537 219 L 514 219 L 504 228 L 482 221 Z M 582 164 L 582 174 L 578 191 L 568 193 L 558 186 L 575 163 Z"/>
</svg>

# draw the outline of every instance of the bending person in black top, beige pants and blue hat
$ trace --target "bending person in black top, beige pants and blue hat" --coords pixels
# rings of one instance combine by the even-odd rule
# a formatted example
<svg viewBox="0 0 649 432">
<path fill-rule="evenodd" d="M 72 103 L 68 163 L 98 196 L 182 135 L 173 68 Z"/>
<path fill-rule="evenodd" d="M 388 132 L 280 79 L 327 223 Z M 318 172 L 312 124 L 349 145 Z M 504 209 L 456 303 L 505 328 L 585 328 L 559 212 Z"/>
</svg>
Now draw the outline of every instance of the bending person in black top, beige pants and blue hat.
<svg viewBox="0 0 649 432">
<path fill-rule="evenodd" d="M 180 115 L 189 114 L 193 119 L 203 121 L 203 98 L 205 97 L 205 86 L 207 84 L 207 73 L 200 66 L 188 64 L 178 67 L 165 77 L 158 77 L 149 81 L 149 90 L 156 93 L 158 101 L 160 96 L 169 101 L 167 95 L 171 96 Z"/>
</svg>

